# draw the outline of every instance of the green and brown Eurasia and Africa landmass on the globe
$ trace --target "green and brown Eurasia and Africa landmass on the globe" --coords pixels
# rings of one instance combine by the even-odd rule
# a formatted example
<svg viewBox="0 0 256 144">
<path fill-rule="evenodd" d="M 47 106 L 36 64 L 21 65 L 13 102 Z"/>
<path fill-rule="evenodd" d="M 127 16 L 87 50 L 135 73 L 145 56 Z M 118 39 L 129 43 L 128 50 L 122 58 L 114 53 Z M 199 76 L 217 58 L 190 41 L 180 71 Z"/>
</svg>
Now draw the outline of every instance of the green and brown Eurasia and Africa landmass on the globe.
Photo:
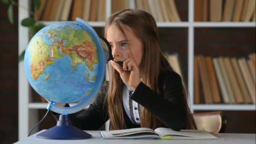
<svg viewBox="0 0 256 144">
<path fill-rule="evenodd" d="M 54 64 L 54 59 L 61 59 L 63 54 L 70 57 L 74 69 L 77 64 L 85 62 L 88 69 L 93 71 L 93 65 L 99 62 L 97 48 L 88 32 L 70 26 L 43 31 L 30 45 L 29 50 L 32 53 L 30 71 L 34 80 L 44 73 L 45 67 Z M 85 76 L 89 81 L 89 73 Z M 92 76 L 91 80 L 95 80 L 95 77 L 96 75 Z M 48 78 L 45 77 L 45 80 Z"/>
</svg>

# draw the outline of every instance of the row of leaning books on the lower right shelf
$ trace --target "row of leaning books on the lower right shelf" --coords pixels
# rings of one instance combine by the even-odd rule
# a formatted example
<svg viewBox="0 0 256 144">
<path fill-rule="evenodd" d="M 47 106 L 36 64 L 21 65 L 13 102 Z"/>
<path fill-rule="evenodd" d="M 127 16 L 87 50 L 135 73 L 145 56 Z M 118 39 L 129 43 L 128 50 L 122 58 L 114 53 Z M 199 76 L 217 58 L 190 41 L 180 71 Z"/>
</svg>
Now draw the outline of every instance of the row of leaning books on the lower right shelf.
<svg viewBox="0 0 256 144">
<path fill-rule="evenodd" d="M 195 56 L 195 104 L 256 104 L 256 54 Z"/>
</svg>

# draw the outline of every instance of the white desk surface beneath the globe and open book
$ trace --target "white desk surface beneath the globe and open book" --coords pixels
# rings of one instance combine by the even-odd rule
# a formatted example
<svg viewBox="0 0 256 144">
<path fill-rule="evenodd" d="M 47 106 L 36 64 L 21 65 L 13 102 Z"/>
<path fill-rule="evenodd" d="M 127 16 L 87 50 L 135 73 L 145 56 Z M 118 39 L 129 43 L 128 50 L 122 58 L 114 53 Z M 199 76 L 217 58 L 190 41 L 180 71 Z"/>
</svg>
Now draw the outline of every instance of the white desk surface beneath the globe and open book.
<svg viewBox="0 0 256 144">
<path fill-rule="evenodd" d="M 45 130 L 43 130 L 45 131 Z M 41 133 L 42 131 L 38 132 Z M 91 139 L 49 140 L 36 138 L 38 133 L 15 144 L 255 144 L 256 134 L 219 133 L 219 139 L 211 140 L 161 140 L 161 139 L 101 139 L 99 131 L 86 131 Z"/>
</svg>

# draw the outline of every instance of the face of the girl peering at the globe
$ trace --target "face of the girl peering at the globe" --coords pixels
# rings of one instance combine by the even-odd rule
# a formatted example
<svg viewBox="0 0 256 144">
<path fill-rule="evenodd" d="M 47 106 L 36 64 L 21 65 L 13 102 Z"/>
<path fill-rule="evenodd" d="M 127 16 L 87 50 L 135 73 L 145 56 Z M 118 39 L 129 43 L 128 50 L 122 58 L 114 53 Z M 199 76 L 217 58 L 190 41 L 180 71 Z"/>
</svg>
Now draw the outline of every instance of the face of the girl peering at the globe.
<svg viewBox="0 0 256 144">
<path fill-rule="evenodd" d="M 122 28 L 125 35 L 115 24 L 110 25 L 107 29 L 106 39 L 111 45 L 112 55 L 114 58 L 121 58 L 122 61 L 132 59 L 139 67 L 142 59 L 141 41 L 133 34 L 131 28 L 124 25 Z"/>
</svg>

